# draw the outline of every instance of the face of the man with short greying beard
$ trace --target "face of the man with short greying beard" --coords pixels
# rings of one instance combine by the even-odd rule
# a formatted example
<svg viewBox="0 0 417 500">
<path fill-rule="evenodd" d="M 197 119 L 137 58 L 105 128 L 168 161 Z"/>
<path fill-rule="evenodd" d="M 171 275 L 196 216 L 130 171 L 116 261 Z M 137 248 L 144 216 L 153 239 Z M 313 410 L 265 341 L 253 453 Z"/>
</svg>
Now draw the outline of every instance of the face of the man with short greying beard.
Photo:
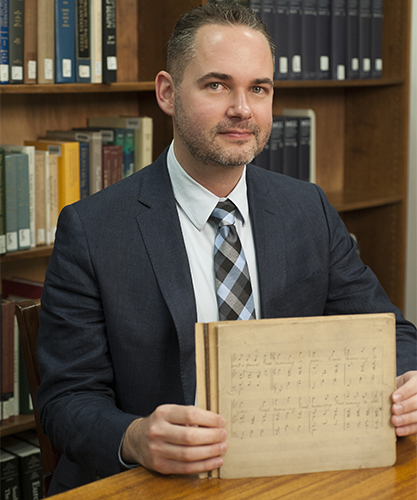
<svg viewBox="0 0 417 500">
<path fill-rule="evenodd" d="M 239 167 L 264 148 L 272 126 L 273 62 L 265 37 L 242 26 L 207 25 L 175 89 L 180 163 Z"/>
</svg>

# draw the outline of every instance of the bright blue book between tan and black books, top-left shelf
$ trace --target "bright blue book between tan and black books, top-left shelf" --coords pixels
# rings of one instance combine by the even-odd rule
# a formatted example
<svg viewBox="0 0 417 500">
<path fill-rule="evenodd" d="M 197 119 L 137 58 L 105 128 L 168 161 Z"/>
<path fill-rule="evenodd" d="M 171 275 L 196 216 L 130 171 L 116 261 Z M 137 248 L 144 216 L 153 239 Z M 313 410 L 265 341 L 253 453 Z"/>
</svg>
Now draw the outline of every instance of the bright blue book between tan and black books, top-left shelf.
<svg viewBox="0 0 417 500">
<path fill-rule="evenodd" d="M 75 83 L 75 0 L 55 0 L 55 83 Z"/>
</svg>

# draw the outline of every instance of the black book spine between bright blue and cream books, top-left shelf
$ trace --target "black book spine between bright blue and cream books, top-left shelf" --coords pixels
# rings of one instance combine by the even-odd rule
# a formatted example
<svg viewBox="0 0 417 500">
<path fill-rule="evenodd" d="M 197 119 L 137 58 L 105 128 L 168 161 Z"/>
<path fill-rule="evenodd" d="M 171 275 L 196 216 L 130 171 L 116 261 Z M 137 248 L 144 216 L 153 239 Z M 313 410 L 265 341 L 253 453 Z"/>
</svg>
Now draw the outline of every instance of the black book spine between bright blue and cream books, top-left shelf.
<svg viewBox="0 0 417 500">
<path fill-rule="evenodd" d="M 76 81 L 91 82 L 90 0 L 76 0 Z"/>
</svg>

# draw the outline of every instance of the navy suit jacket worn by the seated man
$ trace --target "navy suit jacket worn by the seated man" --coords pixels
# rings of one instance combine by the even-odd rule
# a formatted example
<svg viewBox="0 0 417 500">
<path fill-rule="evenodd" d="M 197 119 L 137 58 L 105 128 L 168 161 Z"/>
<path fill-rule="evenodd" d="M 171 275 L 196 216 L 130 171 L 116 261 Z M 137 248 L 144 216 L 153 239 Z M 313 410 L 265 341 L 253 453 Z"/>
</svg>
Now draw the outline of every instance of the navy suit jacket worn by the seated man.
<svg viewBox="0 0 417 500">
<path fill-rule="evenodd" d="M 394 312 L 398 372 L 416 331 L 361 262 L 314 184 L 249 165 L 261 316 Z M 121 471 L 130 422 L 195 398 L 195 298 L 166 152 L 60 215 L 46 273 L 38 361 L 45 433 L 68 488 Z"/>
</svg>

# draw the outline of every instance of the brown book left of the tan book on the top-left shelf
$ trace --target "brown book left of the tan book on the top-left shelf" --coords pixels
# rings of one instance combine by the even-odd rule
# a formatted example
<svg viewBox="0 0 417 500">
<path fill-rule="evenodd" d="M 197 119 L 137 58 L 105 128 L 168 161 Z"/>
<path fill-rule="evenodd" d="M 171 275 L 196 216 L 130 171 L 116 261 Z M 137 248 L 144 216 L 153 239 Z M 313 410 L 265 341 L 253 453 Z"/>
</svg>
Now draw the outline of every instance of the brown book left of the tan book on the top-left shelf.
<svg viewBox="0 0 417 500">
<path fill-rule="evenodd" d="M 23 34 L 23 83 L 36 83 L 38 60 L 38 2 L 25 0 Z"/>
</svg>

